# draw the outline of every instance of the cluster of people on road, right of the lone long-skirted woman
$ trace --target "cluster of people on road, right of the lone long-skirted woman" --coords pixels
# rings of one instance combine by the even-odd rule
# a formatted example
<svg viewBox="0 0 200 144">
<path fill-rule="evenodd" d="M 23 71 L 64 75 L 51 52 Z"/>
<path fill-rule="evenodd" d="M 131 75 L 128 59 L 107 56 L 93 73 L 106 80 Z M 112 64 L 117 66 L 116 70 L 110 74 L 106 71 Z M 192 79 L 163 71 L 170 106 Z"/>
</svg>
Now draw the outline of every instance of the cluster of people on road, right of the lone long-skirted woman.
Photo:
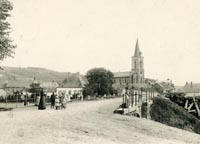
<svg viewBox="0 0 200 144">
<path fill-rule="evenodd" d="M 51 101 L 51 109 L 65 109 L 67 106 L 67 98 L 65 96 L 64 93 L 62 93 L 61 95 L 57 95 L 54 92 L 52 93 L 51 97 L 50 97 L 50 101 Z"/>
</svg>

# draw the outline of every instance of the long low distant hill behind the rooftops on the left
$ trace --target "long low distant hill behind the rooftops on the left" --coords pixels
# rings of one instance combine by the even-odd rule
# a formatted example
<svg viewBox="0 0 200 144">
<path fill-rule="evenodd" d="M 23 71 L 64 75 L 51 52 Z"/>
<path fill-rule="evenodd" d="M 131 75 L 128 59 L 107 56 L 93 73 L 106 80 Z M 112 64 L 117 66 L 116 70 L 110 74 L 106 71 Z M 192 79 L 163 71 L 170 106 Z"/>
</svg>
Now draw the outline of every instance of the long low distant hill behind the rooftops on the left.
<svg viewBox="0 0 200 144">
<path fill-rule="evenodd" d="M 71 73 L 69 72 L 57 72 L 45 68 L 37 67 L 2 67 L 0 70 L 0 83 L 5 80 L 16 78 L 36 78 L 39 82 L 56 81 L 61 83 Z"/>
</svg>

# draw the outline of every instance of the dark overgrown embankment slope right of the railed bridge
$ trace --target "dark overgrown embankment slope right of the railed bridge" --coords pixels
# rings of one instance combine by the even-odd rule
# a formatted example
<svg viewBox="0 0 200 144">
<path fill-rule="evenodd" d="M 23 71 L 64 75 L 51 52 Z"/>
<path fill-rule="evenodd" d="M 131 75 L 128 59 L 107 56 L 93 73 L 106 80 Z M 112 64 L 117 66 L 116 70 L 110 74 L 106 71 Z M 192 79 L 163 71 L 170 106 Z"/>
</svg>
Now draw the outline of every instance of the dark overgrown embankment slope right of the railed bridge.
<svg viewBox="0 0 200 144">
<path fill-rule="evenodd" d="M 163 97 L 154 97 L 151 119 L 200 134 L 200 121 L 183 107 Z"/>
</svg>

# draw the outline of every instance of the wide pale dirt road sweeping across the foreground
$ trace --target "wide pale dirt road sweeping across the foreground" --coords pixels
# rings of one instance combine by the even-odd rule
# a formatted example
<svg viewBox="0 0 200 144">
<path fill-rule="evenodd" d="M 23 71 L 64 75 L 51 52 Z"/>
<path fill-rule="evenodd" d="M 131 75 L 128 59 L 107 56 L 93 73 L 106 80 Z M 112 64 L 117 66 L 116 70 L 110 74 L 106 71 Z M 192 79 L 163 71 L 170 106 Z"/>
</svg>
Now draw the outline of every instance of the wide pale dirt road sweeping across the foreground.
<svg viewBox="0 0 200 144">
<path fill-rule="evenodd" d="M 184 144 L 200 135 L 151 120 L 113 114 L 121 98 L 76 102 L 66 110 L 16 109 L 0 112 L 2 144 Z"/>
</svg>

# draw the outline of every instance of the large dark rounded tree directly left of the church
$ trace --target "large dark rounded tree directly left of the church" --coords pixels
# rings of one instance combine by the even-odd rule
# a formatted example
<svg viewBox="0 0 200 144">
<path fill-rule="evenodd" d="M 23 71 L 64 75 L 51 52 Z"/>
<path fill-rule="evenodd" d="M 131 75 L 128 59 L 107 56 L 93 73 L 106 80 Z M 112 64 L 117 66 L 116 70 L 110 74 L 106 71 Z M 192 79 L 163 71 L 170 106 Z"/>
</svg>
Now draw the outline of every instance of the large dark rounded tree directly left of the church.
<svg viewBox="0 0 200 144">
<path fill-rule="evenodd" d="M 84 95 L 104 95 L 113 93 L 113 73 L 104 68 L 93 68 L 87 72 L 88 84 L 84 88 Z"/>
</svg>

